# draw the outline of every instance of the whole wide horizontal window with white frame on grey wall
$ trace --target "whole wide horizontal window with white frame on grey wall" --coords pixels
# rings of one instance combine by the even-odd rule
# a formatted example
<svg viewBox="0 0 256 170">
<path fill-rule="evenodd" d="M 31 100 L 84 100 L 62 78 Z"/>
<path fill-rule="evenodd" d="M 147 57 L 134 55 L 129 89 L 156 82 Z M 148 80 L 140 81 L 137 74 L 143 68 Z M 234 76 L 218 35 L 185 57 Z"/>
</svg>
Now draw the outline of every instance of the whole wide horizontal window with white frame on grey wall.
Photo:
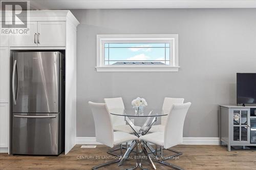
<svg viewBox="0 0 256 170">
<path fill-rule="evenodd" d="M 97 35 L 97 71 L 178 71 L 178 35 Z"/>
</svg>

